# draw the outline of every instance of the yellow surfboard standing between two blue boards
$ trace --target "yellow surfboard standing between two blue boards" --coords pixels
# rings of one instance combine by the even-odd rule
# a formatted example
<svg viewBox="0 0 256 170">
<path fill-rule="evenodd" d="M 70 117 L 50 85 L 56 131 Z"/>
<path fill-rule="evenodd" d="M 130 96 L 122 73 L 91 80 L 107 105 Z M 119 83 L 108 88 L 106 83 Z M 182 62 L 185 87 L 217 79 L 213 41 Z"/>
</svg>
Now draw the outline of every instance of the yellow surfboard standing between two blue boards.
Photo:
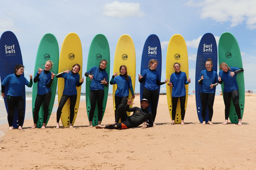
<svg viewBox="0 0 256 170">
<path fill-rule="evenodd" d="M 167 48 L 167 55 L 166 55 L 166 79 L 170 79 L 171 74 L 175 72 L 174 70 L 174 63 L 180 63 L 180 71 L 185 72 L 188 79 L 188 51 L 187 45 L 184 38 L 179 35 L 173 35 L 169 41 L 169 45 Z M 169 83 L 169 81 L 167 82 Z M 168 86 L 166 83 L 166 95 L 167 95 L 167 104 L 170 112 L 171 119 L 172 118 L 172 87 Z M 188 84 L 185 85 L 186 87 L 186 103 L 185 103 L 185 111 L 187 108 L 187 101 L 188 101 Z M 181 113 L 180 113 L 180 99 L 178 100 L 178 105 L 176 109 L 175 115 L 175 123 L 181 123 Z"/>
</svg>

